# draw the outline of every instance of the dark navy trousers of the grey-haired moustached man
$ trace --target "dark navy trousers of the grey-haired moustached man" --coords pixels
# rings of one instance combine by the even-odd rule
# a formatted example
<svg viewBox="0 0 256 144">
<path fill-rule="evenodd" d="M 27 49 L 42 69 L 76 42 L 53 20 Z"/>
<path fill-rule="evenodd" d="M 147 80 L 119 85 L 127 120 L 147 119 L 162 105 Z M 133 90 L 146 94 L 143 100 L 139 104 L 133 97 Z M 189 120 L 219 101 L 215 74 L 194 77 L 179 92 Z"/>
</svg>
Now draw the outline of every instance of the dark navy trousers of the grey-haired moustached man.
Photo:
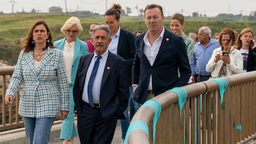
<svg viewBox="0 0 256 144">
<path fill-rule="evenodd" d="M 81 144 L 111 144 L 116 130 L 117 117 L 105 122 L 100 108 L 82 104 L 77 111 L 77 129 Z"/>
</svg>

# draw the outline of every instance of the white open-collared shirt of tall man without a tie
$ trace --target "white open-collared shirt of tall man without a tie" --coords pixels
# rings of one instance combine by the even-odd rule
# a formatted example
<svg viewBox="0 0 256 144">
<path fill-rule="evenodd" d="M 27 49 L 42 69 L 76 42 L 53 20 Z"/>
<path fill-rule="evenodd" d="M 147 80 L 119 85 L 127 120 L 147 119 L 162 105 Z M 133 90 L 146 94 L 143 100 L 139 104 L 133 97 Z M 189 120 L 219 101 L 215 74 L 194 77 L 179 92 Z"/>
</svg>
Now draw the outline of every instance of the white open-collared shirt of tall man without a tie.
<svg viewBox="0 0 256 144">
<path fill-rule="evenodd" d="M 156 56 L 159 52 L 159 49 L 160 49 L 160 46 L 161 46 L 161 43 L 163 40 L 163 35 L 164 35 L 164 28 L 163 28 L 160 36 L 153 42 L 152 46 L 148 41 L 148 32 L 146 33 L 146 35 L 143 38 L 144 43 L 145 43 L 143 53 L 148 58 L 148 62 L 150 62 L 151 66 L 153 66 Z M 148 85 L 148 90 L 153 90 L 151 75 L 150 75 L 150 82 Z"/>
</svg>

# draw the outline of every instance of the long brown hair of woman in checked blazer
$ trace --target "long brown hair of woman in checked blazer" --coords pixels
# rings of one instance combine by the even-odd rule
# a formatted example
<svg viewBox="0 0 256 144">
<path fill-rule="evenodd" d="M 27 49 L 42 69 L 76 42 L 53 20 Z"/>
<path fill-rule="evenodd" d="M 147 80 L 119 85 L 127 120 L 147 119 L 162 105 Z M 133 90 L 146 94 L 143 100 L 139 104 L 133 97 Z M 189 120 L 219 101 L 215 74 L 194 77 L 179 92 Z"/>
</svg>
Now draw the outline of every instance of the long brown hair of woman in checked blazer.
<svg viewBox="0 0 256 144">
<path fill-rule="evenodd" d="M 20 43 L 22 44 L 22 49 L 24 49 L 24 53 L 27 53 L 29 51 L 33 51 L 33 49 L 35 48 L 35 42 L 32 43 L 32 41 L 33 41 L 33 30 L 38 25 L 44 25 L 45 28 L 46 28 L 47 33 L 49 33 L 49 37 L 48 37 L 49 42 L 46 41 L 46 48 L 48 48 L 48 46 L 50 48 L 56 48 L 53 45 L 53 38 L 51 37 L 51 32 L 49 30 L 49 27 L 48 27 L 47 23 L 44 20 L 38 20 L 35 23 L 33 23 L 32 27 L 30 27 L 30 29 L 28 30 L 28 35 L 21 38 L 21 40 L 20 40 Z"/>
</svg>

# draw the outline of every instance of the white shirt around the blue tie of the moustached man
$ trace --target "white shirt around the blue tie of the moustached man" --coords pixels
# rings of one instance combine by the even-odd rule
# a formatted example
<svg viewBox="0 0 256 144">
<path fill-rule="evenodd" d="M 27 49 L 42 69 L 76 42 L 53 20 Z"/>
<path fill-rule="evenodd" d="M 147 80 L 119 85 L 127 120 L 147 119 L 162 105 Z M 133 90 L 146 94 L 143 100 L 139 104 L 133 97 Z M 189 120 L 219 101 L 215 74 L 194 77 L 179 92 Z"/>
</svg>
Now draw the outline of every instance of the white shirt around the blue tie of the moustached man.
<svg viewBox="0 0 256 144">
<path fill-rule="evenodd" d="M 85 86 L 83 87 L 82 99 L 83 99 L 83 101 L 85 101 L 87 103 L 89 103 L 89 100 L 88 100 L 88 83 L 89 83 L 89 79 L 90 79 L 91 74 L 92 74 L 92 70 L 93 70 L 95 61 L 97 59 L 96 56 L 97 56 L 97 54 L 94 52 L 92 61 L 90 62 L 90 65 L 89 65 L 88 70 L 87 70 L 87 74 L 86 74 L 86 78 L 85 78 Z M 102 77 L 103 77 L 103 73 L 104 73 L 104 70 L 105 70 L 107 59 L 108 59 L 108 51 L 106 51 L 105 53 L 103 53 L 101 55 L 99 68 L 98 68 L 95 80 L 93 82 L 93 88 L 92 88 L 93 103 L 100 103 L 100 86 L 101 86 L 101 81 L 102 81 Z"/>
</svg>

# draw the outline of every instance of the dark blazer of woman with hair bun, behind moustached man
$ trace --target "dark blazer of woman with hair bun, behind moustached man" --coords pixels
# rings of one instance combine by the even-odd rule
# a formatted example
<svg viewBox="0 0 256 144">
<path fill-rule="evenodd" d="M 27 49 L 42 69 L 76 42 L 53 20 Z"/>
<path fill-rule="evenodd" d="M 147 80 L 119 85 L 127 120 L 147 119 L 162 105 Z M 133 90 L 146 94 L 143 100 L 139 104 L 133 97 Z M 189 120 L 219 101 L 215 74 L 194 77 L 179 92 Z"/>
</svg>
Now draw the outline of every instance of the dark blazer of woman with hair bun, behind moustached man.
<svg viewBox="0 0 256 144">
<path fill-rule="evenodd" d="M 129 64 L 129 84 L 132 84 L 132 64 L 134 63 L 135 55 L 135 36 L 134 34 L 122 30 L 120 31 L 120 37 L 117 46 L 117 54 L 126 59 Z"/>
</svg>

